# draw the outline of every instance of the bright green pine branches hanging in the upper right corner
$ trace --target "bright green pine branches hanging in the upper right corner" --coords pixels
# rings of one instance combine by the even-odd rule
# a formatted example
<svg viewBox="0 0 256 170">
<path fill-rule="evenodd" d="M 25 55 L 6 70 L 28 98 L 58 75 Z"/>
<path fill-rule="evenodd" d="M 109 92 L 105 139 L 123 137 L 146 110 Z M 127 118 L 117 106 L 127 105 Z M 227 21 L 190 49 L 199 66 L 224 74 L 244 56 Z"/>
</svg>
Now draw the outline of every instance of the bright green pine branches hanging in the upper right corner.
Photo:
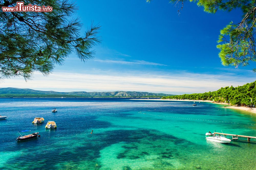
<svg viewBox="0 0 256 170">
<path fill-rule="evenodd" d="M 151 0 L 146 0 L 150 2 Z M 239 23 L 227 24 L 220 30 L 217 48 L 220 49 L 219 57 L 224 66 L 247 66 L 256 62 L 255 28 L 256 28 L 256 1 L 253 0 L 169 0 L 175 5 L 190 1 L 204 7 L 205 12 L 215 13 L 217 10 L 231 11 L 240 8 L 243 12 Z M 178 10 L 178 12 L 180 11 Z M 253 69 L 256 72 L 256 69 Z"/>
</svg>

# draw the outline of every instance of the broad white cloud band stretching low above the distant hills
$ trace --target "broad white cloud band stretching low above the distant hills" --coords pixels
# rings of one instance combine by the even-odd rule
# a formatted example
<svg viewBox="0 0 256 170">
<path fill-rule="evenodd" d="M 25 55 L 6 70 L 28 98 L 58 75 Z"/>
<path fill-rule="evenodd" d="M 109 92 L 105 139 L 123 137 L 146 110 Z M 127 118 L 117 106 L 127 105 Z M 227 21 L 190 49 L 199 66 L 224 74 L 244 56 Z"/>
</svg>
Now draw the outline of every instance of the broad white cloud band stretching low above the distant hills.
<svg viewBox="0 0 256 170">
<path fill-rule="evenodd" d="M 167 73 L 65 73 L 54 72 L 48 77 L 35 73 L 32 81 L 23 78 L 7 79 L 0 87 L 31 88 L 55 91 L 147 91 L 153 93 L 184 94 L 215 91 L 220 87 L 243 85 L 253 78 L 226 75 Z"/>
</svg>

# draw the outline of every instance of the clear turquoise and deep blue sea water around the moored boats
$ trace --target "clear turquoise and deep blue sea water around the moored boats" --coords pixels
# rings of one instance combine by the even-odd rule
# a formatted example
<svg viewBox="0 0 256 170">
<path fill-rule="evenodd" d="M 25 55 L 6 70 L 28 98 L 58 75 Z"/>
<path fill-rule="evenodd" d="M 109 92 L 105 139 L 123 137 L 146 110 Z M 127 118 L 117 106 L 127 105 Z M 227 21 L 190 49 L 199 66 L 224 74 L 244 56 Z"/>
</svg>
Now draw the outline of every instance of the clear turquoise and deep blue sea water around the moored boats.
<svg viewBox="0 0 256 170">
<path fill-rule="evenodd" d="M 0 169 L 255 169 L 256 143 L 225 145 L 207 141 L 204 134 L 216 129 L 256 136 L 256 116 L 213 103 L 192 104 L 0 99 L 0 113 L 9 118 L 0 121 Z M 58 112 L 52 113 L 55 107 Z M 33 125 L 34 117 L 45 122 Z M 45 129 L 47 121 L 55 121 L 57 129 Z M 16 142 L 17 131 L 25 129 L 41 137 Z"/>
</svg>

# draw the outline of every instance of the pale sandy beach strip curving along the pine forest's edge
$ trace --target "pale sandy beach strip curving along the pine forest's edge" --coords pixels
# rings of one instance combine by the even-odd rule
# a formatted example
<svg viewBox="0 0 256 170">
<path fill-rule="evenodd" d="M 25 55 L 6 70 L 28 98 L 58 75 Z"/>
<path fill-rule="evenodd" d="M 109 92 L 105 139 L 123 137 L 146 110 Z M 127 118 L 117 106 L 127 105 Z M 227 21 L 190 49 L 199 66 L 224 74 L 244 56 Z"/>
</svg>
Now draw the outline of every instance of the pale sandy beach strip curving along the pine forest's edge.
<svg viewBox="0 0 256 170">
<path fill-rule="evenodd" d="M 246 111 L 246 112 L 250 112 L 250 113 L 256 113 L 256 108 L 247 108 L 244 106 L 230 106 L 229 103 L 223 103 L 223 102 L 215 102 L 212 100 L 178 100 L 178 99 L 130 99 L 130 100 L 165 100 L 165 101 L 196 101 L 196 102 L 211 102 L 211 103 L 215 103 L 215 104 L 225 104 L 228 105 L 226 108 L 228 109 L 236 109 L 236 110 L 241 110 L 241 111 Z"/>
</svg>

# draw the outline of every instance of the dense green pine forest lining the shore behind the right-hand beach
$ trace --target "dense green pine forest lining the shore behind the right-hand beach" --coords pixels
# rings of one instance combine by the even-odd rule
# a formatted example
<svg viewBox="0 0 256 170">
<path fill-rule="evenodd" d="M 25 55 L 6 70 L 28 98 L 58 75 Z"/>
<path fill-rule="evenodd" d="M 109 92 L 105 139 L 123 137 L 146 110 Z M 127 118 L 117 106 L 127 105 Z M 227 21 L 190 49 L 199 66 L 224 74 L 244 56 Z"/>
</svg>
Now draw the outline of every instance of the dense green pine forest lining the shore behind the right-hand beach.
<svg viewBox="0 0 256 170">
<path fill-rule="evenodd" d="M 212 92 L 166 96 L 162 99 L 214 100 L 216 102 L 226 101 L 231 105 L 255 106 L 256 81 L 238 87 L 221 87 L 219 90 Z"/>
</svg>

